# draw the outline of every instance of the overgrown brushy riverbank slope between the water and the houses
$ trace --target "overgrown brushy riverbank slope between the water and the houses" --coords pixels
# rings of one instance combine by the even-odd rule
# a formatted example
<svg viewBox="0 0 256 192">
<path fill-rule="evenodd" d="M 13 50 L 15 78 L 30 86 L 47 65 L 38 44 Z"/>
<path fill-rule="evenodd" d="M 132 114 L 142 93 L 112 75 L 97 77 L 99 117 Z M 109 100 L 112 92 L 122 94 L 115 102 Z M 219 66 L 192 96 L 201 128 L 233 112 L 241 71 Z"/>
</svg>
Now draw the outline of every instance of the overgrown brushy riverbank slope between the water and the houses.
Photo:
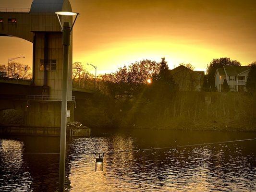
<svg viewBox="0 0 256 192">
<path fill-rule="evenodd" d="M 152 97 L 145 92 L 132 99 L 101 97 L 77 105 L 75 118 L 92 128 L 256 132 L 256 99 L 246 93 L 175 92 Z"/>
</svg>

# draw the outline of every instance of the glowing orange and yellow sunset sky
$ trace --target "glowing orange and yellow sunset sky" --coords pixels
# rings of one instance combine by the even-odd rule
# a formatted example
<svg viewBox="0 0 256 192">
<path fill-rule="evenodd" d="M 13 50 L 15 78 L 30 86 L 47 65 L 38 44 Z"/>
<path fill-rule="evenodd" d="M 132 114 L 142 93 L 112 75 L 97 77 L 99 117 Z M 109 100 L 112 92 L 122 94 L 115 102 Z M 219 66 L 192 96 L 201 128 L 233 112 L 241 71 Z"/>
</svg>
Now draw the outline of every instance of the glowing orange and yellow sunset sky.
<svg viewBox="0 0 256 192">
<path fill-rule="evenodd" d="M 32 0 L 0 0 L 1 7 L 30 7 Z M 247 65 L 256 60 L 256 0 L 70 0 L 80 15 L 73 28 L 73 62 L 98 73 L 144 59 L 169 68 L 191 63 L 206 70 L 214 58 Z M 32 64 L 32 43 L 0 36 L 0 64 Z"/>
</svg>

